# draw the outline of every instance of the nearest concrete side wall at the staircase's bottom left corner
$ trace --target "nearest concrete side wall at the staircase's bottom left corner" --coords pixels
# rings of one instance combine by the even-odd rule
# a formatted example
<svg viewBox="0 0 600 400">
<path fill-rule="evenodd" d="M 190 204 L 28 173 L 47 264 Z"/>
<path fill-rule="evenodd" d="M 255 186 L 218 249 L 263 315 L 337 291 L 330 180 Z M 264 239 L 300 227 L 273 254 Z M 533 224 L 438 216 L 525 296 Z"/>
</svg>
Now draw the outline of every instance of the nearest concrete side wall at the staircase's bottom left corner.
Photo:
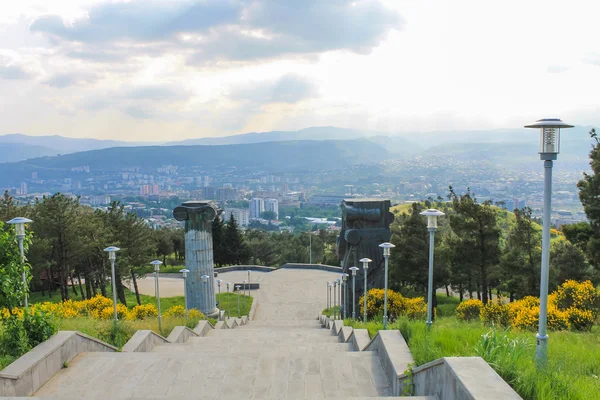
<svg viewBox="0 0 600 400">
<path fill-rule="evenodd" d="M 83 352 L 117 351 L 76 331 L 59 331 L 0 371 L 0 396 L 31 396 Z"/>
</svg>

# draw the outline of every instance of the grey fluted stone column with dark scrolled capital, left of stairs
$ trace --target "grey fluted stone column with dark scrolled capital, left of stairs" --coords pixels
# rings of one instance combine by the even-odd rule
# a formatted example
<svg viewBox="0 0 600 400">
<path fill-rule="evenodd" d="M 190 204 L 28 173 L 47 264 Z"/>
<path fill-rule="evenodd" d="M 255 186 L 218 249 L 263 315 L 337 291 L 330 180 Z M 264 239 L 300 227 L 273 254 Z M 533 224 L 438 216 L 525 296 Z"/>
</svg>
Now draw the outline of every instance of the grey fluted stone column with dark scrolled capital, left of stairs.
<svg viewBox="0 0 600 400">
<path fill-rule="evenodd" d="M 185 221 L 185 292 L 188 309 L 196 308 L 207 317 L 217 317 L 219 309 L 215 296 L 212 221 L 218 208 L 210 201 L 186 201 L 173 210 L 177 221 Z M 208 275 L 208 282 L 202 282 Z M 207 293 L 208 292 L 208 293 Z"/>
</svg>

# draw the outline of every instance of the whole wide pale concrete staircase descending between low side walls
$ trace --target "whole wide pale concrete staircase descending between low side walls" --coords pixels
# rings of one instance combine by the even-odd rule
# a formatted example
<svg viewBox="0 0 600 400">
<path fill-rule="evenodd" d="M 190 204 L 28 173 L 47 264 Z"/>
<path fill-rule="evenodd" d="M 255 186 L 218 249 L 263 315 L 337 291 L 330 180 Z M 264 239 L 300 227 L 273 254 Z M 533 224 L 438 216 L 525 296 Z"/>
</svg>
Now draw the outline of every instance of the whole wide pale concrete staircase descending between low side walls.
<svg viewBox="0 0 600 400">
<path fill-rule="evenodd" d="M 350 351 L 348 343 L 338 340 L 317 320 L 256 321 L 235 329 L 209 329 L 203 337 L 160 344 L 151 352 L 82 353 L 35 395 L 61 399 L 390 396 L 377 352 Z"/>
</svg>

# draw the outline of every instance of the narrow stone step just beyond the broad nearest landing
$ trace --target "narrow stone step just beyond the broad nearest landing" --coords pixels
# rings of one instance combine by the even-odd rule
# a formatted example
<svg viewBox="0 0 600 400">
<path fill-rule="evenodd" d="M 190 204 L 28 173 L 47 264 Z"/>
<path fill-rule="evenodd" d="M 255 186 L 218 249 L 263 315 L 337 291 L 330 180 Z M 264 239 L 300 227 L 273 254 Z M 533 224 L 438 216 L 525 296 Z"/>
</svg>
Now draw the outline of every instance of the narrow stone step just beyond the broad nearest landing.
<svg viewBox="0 0 600 400">
<path fill-rule="evenodd" d="M 331 353 L 331 352 L 345 352 L 352 351 L 350 343 L 307 343 L 307 344 L 256 344 L 245 345 L 236 344 L 232 345 L 231 342 L 222 341 L 217 343 L 215 341 L 197 340 L 193 343 L 172 343 L 163 344 L 154 347 L 152 351 L 155 352 L 196 352 L 196 353 Z"/>
</svg>

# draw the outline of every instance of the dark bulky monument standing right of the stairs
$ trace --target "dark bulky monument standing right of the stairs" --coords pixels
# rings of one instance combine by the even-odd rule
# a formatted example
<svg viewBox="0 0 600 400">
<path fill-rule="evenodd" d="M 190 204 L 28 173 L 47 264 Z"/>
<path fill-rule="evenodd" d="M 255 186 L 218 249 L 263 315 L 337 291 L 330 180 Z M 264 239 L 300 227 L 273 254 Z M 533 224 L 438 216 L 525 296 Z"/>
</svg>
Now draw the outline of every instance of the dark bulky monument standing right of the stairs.
<svg viewBox="0 0 600 400">
<path fill-rule="evenodd" d="M 361 258 L 373 260 L 367 273 L 369 289 L 384 286 L 384 260 L 381 243 L 389 242 L 392 233 L 390 225 L 394 214 L 390 211 L 390 200 L 379 199 L 347 199 L 342 201 L 342 230 L 337 238 L 338 256 L 345 273 L 352 275 L 350 267 L 360 268 L 356 276 L 356 301 L 364 293 L 364 270 Z M 351 315 L 352 285 L 348 282 L 348 298 L 343 300 L 343 307 Z M 357 306 L 358 307 L 358 306 Z M 357 312 L 357 314 L 359 314 Z"/>
</svg>

